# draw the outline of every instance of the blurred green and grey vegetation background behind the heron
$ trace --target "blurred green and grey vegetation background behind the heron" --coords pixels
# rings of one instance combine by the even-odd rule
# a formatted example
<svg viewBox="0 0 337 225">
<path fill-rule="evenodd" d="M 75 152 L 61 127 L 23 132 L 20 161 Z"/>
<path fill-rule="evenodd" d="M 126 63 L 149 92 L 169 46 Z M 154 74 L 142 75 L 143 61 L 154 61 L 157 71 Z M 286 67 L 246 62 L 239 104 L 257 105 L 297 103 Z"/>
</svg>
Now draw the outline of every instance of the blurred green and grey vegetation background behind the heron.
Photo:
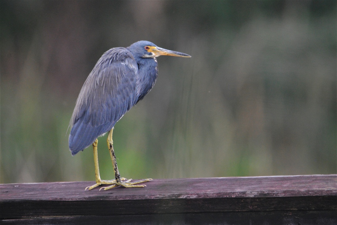
<svg viewBox="0 0 337 225">
<path fill-rule="evenodd" d="M 149 40 L 147 97 L 114 130 L 126 178 L 336 173 L 336 1 L 0 1 L 1 183 L 94 181 L 71 156 L 80 89 L 112 47 Z M 106 136 L 102 179 L 113 179 Z"/>
</svg>

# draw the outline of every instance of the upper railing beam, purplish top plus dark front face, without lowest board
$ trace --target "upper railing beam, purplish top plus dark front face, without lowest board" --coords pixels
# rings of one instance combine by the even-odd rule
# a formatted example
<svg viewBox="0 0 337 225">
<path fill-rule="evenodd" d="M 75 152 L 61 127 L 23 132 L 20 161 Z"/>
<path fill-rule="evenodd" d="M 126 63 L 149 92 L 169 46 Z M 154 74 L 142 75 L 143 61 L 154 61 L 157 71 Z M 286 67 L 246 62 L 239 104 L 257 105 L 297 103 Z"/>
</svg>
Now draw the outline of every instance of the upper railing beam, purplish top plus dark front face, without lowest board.
<svg viewBox="0 0 337 225">
<path fill-rule="evenodd" d="M 158 179 L 84 191 L 92 184 L 2 184 L 0 219 L 337 209 L 337 175 Z"/>
</svg>

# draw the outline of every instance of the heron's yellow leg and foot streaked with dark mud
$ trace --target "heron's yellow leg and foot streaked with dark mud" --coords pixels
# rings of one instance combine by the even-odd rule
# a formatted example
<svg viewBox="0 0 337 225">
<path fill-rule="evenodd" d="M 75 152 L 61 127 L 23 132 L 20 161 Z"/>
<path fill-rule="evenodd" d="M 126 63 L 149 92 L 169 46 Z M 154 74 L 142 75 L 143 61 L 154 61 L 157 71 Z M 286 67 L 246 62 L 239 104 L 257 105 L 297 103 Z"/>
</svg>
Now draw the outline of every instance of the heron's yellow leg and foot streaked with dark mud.
<svg viewBox="0 0 337 225">
<path fill-rule="evenodd" d="M 109 131 L 108 134 L 108 139 L 106 140 L 106 142 L 108 143 L 108 148 L 109 148 L 109 152 L 110 152 L 110 157 L 111 157 L 111 161 L 114 167 L 114 172 L 115 172 L 115 183 L 109 187 L 102 187 L 100 189 L 104 189 L 104 190 L 109 190 L 111 188 L 117 187 L 117 186 L 123 186 L 123 187 L 146 187 L 146 185 L 135 185 L 135 184 L 139 184 L 139 183 L 143 183 L 143 182 L 147 182 L 147 181 L 152 181 L 152 179 L 144 179 L 144 180 L 140 180 L 140 181 L 134 181 L 131 182 L 132 179 L 127 180 L 125 182 L 122 182 L 122 178 L 120 178 L 119 172 L 118 172 L 118 168 L 117 168 L 117 162 L 116 162 L 116 156 L 115 156 L 115 152 L 114 152 L 114 147 L 113 147 L 113 141 L 112 141 L 112 132 L 113 132 L 112 128 Z M 98 166 L 98 162 L 97 162 L 97 166 Z M 99 189 L 99 190 L 100 190 Z"/>
</svg>

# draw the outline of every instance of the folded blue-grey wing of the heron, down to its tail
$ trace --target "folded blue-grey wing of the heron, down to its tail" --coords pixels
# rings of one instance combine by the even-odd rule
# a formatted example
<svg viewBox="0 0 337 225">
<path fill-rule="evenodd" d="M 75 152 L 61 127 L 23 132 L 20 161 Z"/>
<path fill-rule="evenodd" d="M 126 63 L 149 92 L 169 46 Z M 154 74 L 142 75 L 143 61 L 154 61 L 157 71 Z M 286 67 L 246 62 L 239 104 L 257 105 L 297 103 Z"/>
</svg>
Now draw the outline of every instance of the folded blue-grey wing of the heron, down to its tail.
<svg viewBox="0 0 337 225">
<path fill-rule="evenodd" d="M 108 132 L 138 100 L 138 66 L 130 51 L 105 52 L 85 81 L 72 114 L 69 149 L 74 155 Z"/>
</svg>

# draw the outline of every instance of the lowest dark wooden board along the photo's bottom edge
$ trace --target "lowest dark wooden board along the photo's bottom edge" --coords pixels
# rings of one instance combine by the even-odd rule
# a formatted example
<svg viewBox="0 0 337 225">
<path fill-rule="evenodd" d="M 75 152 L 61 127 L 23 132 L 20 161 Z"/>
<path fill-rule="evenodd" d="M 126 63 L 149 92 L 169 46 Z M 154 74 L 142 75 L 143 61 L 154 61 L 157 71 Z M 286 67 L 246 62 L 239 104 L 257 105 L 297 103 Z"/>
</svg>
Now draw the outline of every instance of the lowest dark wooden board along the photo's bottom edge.
<svg viewBox="0 0 337 225">
<path fill-rule="evenodd" d="M 57 218 L 26 218 L 2 220 L 3 225 L 47 225 L 47 224 L 175 224 L 175 225 L 336 225 L 335 211 L 264 211 L 264 212 L 219 212 L 178 213 L 119 216 L 83 216 Z"/>
</svg>

